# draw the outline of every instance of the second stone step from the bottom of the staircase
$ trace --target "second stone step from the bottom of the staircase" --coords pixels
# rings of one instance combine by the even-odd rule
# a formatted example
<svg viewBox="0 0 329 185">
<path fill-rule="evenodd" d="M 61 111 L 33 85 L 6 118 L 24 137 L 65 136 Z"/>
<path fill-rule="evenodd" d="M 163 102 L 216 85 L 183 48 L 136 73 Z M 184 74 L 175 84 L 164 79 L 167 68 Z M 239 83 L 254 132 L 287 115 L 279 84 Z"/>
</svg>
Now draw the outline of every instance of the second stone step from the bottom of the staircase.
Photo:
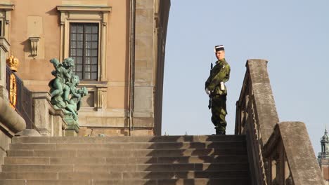
<svg viewBox="0 0 329 185">
<path fill-rule="evenodd" d="M 223 172 L 0 172 L 0 179 L 27 180 L 110 180 L 110 179 L 195 179 L 195 178 L 248 178 L 247 170 Z"/>
</svg>

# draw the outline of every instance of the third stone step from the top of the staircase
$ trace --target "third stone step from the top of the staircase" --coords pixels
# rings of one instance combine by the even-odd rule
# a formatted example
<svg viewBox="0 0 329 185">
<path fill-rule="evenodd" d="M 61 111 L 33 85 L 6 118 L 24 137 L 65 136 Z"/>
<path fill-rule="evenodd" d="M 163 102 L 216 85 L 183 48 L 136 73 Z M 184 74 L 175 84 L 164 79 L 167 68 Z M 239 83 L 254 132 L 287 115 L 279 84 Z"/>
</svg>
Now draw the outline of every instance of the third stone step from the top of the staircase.
<svg viewBox="0 0 329 185">
<path fill-rule="evenodd" d="M 214 155 L 243 155 L 246 149 L 117 149 L 117 150 L 9 150 L 7 156 L 27 157 L 176 157 L 176 156 L 214 156 Z"/>
</svg>

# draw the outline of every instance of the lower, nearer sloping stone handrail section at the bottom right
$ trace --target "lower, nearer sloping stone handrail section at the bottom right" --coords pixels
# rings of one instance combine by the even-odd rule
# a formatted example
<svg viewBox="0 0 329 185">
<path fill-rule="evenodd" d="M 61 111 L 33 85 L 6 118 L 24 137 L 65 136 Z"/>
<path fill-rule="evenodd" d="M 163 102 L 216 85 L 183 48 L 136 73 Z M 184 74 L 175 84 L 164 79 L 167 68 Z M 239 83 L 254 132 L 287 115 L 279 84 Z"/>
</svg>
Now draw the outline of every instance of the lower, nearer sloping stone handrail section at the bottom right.
<svg viewBox="0 0 329 185">
<path fill-rule="evenodd" d="M 322 184 L 307 128 L 302 122 L 278 123 L 263 148 L 268 184 Z M 322 183 L 321 183 L 322 182 Z"/>
</svg>

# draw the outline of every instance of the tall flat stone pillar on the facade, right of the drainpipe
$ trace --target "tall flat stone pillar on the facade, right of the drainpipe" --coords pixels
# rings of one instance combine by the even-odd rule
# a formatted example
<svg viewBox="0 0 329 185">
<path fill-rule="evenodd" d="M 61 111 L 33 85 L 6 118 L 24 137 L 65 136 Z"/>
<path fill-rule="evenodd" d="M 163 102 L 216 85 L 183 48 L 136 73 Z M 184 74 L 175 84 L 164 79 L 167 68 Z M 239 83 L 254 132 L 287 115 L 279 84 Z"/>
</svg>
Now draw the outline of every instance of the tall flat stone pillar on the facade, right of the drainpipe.
<svg viewBox="0 0 329 185">
<path fill-rule="evenodd" d="M 134 121 L 131 135 L 153 135 L 153 0 L 136 0 Z"/>
</svg>

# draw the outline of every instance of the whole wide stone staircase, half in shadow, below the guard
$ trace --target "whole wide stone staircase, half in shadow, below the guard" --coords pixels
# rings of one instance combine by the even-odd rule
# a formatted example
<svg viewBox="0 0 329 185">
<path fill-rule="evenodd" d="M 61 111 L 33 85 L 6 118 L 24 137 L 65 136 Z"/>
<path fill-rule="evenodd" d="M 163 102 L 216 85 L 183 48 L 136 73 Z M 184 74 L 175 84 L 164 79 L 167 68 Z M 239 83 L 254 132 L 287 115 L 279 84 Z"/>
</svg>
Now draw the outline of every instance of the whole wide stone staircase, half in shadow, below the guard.
<svg viewBox="0 0 329 185">
<path fill-rule="evenodd" d="M 14 137 L 1 185 L 248 185 L 244 135 Z"/>
</svg>

